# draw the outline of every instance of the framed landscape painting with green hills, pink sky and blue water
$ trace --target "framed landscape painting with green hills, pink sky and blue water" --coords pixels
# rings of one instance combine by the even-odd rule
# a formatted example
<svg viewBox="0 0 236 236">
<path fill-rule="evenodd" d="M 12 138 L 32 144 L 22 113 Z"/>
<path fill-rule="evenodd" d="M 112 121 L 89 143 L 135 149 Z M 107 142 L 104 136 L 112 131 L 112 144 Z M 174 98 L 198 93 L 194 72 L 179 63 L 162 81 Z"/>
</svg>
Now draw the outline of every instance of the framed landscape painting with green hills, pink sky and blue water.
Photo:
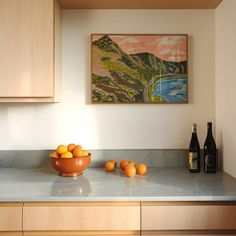
<svg viewBox="0 0 236 236">
<path fill-rule="evenodd" d="M 92 34 L 92 103 L 187 103 L 187 35 Z"/>
</svg>

